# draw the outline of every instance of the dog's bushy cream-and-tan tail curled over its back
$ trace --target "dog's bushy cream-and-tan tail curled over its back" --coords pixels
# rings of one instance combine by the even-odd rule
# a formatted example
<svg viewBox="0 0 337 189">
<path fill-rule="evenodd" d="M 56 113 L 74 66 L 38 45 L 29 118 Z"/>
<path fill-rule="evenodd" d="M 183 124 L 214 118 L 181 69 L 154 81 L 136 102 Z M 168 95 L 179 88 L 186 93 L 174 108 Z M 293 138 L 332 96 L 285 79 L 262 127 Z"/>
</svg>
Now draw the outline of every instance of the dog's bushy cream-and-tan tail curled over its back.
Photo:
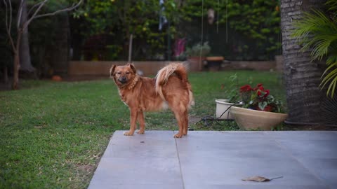
<svg viewBox="0 0 337 189">
<path fill-rule="evenodd" d="M 176 74 L 180 80 L 182 80 L 183 83 L 188 83 L 188 78 L 187 78 L 187 70 L 184 64 L 182 63 L 171 63 L 161 70 L 158 71 L 157 76 L 156 76 L 156 92 L 159 94 L 159 96 L 162 99 L 165 99 L 162 87 L 167 83 L 167 80 L 169 80 L 169 77 L 172 74 Z M 188 92 L 189 92 L 189 98 L 190 98 L 190 103 L 189 105 L 192 106 L 194 105 L 194 99 L 193 99 L 193 94 L 192 94 L 192 89 L 190 86 L 190 83 L 187 85 L 188 87 Z"/>
</svg>

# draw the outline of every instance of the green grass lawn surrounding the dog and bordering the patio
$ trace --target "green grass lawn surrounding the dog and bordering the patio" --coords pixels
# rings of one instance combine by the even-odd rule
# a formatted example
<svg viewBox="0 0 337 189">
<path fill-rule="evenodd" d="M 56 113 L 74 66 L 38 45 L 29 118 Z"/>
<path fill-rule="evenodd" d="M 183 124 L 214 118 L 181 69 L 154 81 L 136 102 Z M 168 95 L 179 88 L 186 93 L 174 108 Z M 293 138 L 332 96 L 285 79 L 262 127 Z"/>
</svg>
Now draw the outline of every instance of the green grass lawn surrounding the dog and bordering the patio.
<svg viewBox="0 0 337 189">
<path fill-rule="evenodd" d="M 285 99 L 277 73 L 191 73 L 194 118 L 213 116 L 237 73 L 239 85 L 263 83 Z M 22 90 L 0 92 L 0 188 L 87 188 L 115 130 L 128 130 L 128 108 L 112 80 L 54 83 L 21 80 Z M 225 89 L 221 89 L 221 85 Z M 176 130 L 170 111 L 147 113 L 147 130 Z M 235 130 L 234 123 L 194 129 Z"/>
</svg>

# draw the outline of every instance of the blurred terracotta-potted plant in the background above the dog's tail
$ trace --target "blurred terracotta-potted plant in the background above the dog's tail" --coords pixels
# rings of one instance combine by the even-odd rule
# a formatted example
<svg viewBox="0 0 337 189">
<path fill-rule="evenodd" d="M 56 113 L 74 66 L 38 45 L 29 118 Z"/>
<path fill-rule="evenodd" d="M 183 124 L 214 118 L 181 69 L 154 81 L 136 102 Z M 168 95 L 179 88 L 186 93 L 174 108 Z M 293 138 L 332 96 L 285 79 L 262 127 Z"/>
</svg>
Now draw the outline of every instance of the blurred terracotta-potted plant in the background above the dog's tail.
<svg viewBox="0 0 337 189">
<path fill-rule="evenodd" d="M 204 61 L 206 55 L 211 51 L 211 47 L 208 42 L 197 43 L 193 45 L 192 48 L 186 48 L 187 61 L 190 63 L 190 71 L 201 71 L 202 62 Z"/>
</svg>

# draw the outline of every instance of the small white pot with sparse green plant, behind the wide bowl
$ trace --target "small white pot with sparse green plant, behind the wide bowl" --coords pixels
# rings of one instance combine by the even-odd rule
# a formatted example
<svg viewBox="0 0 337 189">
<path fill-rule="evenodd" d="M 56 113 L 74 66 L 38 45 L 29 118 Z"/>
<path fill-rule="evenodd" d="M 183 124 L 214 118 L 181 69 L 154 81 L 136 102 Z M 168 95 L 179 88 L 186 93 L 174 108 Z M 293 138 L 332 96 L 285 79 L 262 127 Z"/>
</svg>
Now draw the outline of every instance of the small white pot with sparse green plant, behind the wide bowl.
<svg viewBox="0 0 337 189">
<path fill-rule="evenodd" d="M 229 78 L 232 81 L 230 85 L 230 90 L 226 90 L 225 99 L 216 99 L 216 118 L 218 120 L 233 120 L 233 116 L 230 113 L 230 108 L 232 106 L 241 106 L 239 103 L 239 90 L 237 85 L 237 73 L 230 76 Z M 221 85 L 221 89 L 224 88 L 224 84 Z"/>
</svg>

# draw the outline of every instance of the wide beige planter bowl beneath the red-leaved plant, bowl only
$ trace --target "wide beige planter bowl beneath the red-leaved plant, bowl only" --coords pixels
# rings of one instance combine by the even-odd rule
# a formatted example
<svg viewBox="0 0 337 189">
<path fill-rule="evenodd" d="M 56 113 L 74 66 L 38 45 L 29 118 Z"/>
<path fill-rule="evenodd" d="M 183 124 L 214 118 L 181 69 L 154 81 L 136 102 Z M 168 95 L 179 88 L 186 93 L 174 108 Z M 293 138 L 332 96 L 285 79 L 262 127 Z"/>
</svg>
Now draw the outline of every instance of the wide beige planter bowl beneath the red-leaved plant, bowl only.
<svg viewBox="0 0 337 189">
<path fill-rule="evenodd" d="M 235 106 L 230 108 L 230 113 L 242 130 L 271 130 L 288 117 L 286 113 L 256 111 Z"/>
</svg>

